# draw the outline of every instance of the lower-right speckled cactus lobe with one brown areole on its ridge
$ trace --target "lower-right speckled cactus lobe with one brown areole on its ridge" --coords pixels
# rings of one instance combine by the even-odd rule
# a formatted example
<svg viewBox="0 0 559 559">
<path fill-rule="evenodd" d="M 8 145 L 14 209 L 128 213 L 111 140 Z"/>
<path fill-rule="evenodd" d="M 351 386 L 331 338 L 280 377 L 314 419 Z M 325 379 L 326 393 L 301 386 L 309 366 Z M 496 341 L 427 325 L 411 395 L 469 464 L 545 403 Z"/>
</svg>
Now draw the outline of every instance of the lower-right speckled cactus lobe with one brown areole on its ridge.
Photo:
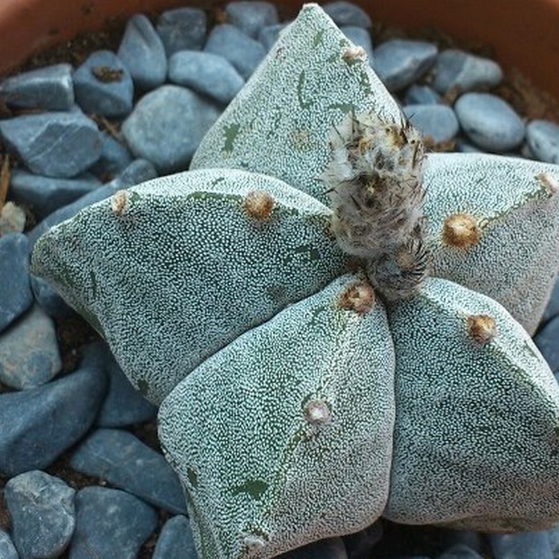
<svg viewBox="0 0 559 559">
<path fill-rule="evenodd" d="M 559 518 L 559 387 L 494 300 L 430 279 L 389 307 L 396 423 L 384 516 L 470 530 Z"/>
</svg>

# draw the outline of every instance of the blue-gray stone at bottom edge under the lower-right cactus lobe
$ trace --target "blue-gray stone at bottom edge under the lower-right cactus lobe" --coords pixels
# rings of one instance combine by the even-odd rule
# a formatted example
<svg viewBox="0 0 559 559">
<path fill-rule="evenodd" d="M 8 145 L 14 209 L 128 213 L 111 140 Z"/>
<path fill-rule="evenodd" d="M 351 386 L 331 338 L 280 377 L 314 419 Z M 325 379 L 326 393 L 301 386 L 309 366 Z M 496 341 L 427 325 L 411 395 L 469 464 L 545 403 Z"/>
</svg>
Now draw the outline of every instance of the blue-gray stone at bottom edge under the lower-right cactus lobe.
<svg viewBox="0 0 559 559">
<path fill-rule="evenodd" d="M 548 532 L 488 535 L 495 559 L 553 559 Z"/>
</svg>

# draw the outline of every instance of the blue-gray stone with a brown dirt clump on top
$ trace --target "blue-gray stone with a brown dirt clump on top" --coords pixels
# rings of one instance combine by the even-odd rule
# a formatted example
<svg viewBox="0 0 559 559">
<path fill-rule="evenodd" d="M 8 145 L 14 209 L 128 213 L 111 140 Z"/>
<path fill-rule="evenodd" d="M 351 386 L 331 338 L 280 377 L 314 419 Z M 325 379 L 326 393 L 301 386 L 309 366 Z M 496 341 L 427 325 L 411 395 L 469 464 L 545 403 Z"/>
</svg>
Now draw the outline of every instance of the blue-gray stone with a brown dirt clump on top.
<svg viewBox="0 0 559 559">
<path fill-rule="evenodd" d="M 110 50 L 97 50 L 75 71 L 74 92 L 78 105 L 85 112 L 120 118 L 132 110 L 131 75 Z"/>
</svg>

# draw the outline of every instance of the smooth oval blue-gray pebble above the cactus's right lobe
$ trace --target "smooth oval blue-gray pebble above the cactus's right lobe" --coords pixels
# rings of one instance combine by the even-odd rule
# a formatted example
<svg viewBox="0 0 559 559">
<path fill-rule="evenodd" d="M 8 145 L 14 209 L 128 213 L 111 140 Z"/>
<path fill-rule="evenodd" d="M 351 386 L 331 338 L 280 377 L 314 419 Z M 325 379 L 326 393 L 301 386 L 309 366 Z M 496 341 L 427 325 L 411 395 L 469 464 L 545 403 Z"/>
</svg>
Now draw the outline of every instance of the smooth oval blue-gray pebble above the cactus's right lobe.
<svg viewBox="0 0 559 559">
<path fill-rule="evenodd" d="M 465 93 L 454 104 L 454 110 L 466 136 L 488 152 L 508 152 L 524 140 L 521 118 L 496 95 Z"/>
</svg>

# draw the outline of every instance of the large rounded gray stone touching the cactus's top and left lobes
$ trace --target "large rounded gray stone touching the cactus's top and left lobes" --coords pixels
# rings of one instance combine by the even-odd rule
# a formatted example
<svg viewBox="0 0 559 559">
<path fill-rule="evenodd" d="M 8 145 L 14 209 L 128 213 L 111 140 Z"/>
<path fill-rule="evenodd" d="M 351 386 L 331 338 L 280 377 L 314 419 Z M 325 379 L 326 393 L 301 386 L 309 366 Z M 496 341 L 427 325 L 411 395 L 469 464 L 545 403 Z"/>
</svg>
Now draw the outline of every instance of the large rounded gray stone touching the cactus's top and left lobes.
<svg viewBox="0 0 559 559">
<path fill-rule="evenodd" d="M 172 173 L 187 168 L 219 114 L 217 106 L 197 93 L 164 85 L 140 99 L 122 132 L 136 157 L 151 161 L 160 173 Z"/>
</svg>

